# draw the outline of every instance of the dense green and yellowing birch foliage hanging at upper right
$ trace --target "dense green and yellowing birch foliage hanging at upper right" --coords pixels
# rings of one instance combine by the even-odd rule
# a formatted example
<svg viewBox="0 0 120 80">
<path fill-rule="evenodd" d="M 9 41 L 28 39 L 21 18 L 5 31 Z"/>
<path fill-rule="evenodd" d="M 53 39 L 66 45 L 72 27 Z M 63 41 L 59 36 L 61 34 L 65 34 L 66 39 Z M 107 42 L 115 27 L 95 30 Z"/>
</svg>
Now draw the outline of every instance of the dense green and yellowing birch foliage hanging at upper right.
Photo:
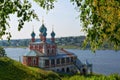
<svg viewBox="0 0 120 80">
<path fill-rule="evenodd" d="M 90 43 L 95 51 L 105 42 L 120 46 L 120 0 L 71 0 L 76 3 L 83 23 L 83 31 L 87 33 L 84 42 Z"/>
</svg>

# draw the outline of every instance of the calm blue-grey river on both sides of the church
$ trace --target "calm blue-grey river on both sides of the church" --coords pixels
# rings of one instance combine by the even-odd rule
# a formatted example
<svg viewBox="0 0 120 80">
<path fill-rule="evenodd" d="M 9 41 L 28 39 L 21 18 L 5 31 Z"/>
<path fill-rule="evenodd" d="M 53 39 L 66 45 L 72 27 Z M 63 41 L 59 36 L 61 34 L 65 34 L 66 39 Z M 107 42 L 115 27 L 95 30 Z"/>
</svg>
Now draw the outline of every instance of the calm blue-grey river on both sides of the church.
<svg viewBox="0 0 120 80">
<path fill-rule="evenodd" d="M 22 61 L 22 56 L 28 51 L 28 48 L 5 48 L 8 57 Z M 90 50 L 67 49 L 75 53 L 78 58 L 85 63 L 86 60 L 93 64 L 93 72 L 99 74 L 120 74 L 120 51 L 97 50 L 92 53 Z"/>
</svg>

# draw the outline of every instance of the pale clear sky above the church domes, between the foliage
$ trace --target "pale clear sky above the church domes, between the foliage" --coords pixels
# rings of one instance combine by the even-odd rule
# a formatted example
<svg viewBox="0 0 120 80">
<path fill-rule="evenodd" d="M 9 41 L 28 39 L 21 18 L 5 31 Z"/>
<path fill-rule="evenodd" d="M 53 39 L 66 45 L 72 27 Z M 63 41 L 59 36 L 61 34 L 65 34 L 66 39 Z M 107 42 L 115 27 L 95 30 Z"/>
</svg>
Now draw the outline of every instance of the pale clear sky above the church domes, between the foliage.
<svg viewBox="0 0 120 80">
<path fill-rule="evenodd" d="M 66 37 L 66 36 L 81 36 L 84 35 L 81 31 L 82 26 L 78 18 L 79 13 L 75 9 L 75 6 L 70 3 L 69 0 L 58 0 L 55 3 L 55 8 L 46 11 L 39 7 L 39 5 L 32 0 L 32 9 L 35 10 L 40 21 L 33 20 L 32 22 L 26 22 L 21 31 L 17 30 L 17 17 L 11 15 L 9 31 L 12 34 L 11 39 L 27 39 L 31 38 L 31 32 L 36 33 L 36 38 L 39 38 L 39 28 L 42 25 L 42 18 L 47 28 L 47 37 L 50 38 L 52 27 L 56 33 L 55 37 Z"/>
</svg>

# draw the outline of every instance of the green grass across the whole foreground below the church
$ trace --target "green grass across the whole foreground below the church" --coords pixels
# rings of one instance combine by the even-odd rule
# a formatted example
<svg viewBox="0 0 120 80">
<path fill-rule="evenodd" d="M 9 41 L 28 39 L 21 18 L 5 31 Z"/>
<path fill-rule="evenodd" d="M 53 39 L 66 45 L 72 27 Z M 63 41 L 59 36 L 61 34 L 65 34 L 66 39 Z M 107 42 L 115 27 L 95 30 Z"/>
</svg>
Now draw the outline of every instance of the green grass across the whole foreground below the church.
<svg viewBox="0 0 120 80">
<path fill-rule="evenodd" d="M 28 67 L 8 57 L 0 57 L 0 80 L 120 80 L 120 74 L 108 76 L 101 74 L 86 76 L 60 74 Z"/>
</svg>

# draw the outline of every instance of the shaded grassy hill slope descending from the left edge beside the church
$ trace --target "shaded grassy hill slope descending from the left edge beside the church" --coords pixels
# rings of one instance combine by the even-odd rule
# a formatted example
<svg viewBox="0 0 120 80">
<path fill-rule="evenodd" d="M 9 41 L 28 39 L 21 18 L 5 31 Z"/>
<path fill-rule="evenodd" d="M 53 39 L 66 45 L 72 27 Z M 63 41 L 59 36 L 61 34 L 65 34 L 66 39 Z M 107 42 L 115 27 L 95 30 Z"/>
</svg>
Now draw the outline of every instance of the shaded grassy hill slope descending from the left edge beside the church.
<svg viewBox="0 0 120 80">
<path fill-rule="evenodd" d="M 60 80 L 58 74 L 0 57 L 0 80 Z"/>
</svg>

